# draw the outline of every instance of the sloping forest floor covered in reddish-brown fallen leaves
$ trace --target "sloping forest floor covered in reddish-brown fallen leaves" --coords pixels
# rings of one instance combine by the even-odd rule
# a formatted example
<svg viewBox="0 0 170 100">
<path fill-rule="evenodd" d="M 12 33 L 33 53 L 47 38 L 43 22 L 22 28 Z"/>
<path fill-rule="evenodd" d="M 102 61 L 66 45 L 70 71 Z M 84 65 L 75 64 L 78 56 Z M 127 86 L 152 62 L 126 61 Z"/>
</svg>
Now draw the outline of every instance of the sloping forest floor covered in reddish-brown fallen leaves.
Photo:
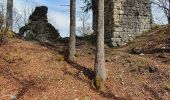
<svg viewBox="0 0 170 100">
<path fill-rule="evenodd" d="M 95 47 L 77 45 L 65 60 L 66 43 L 44 46 L 9 39 L 0 44 L 0 100 L 170 100 L 170 34 L 154 29 L 121 48 L 106 50 L 108 79 L 97 91 L 91 77 Z M 142 48 L 133 54 L 133 48 Z"/>
</svg>

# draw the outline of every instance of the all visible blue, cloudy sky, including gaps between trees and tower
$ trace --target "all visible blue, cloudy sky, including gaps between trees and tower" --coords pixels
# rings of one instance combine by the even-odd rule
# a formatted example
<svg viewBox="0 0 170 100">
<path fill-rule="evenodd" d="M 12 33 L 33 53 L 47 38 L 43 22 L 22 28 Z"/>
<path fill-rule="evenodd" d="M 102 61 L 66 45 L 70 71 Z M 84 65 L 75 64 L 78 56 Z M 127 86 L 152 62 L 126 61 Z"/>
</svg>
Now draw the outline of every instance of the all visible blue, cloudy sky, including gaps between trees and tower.
<svg viewBox="0 0 170 100">
<path fill-rule="evenodd" d="M 0 0 L 2 2 L 3 0 Z M 4 0 L 6 1 L 6 0 Z M 78 18 L 79 13 L 81 12 L 80 7 L 82 7 L 82 0 L 77 1 L 77 26 L 81 25 L 81 22 Z M 52 23 L 59 32 L 61 36 L 69 36 L 69 5 L 70 0 L 14 0 L 14 8 L 17 12 L 23 15 L 24 10 L 27 10 L 28 14 L 31 14 L 32 9 L 35 6 L 45 5 L 48 6 L 48 18 L 49 22 Z M 31 9 L 30 9 L 31 8 Z M 159 13 L 158 13 L 159 12 Z M 29 16 L 29 15 L 28 15 Z M 153 16 L 156 23 L 167 23 L 166 17 L 160 9 L 154 8 Z M 91 22 L 91 20 L 89 20 Z"/>
</svg>

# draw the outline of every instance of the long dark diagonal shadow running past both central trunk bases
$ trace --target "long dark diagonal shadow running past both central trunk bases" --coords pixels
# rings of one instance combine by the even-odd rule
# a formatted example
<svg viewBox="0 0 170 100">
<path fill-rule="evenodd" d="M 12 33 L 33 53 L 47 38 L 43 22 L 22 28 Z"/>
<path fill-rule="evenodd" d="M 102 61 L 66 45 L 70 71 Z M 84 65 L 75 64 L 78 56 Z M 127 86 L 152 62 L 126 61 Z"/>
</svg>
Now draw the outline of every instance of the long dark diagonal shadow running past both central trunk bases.
<svg viewBox="0 0 170 100">
<path fill-rule="evenodd" d="M 89 84 L 90 89 L 92 89 L 93 91 L 95 91 L 96 93 L 98 93 L 100 96 L 108 98 L 108 99 L 113 99 L 113 100 L 127 100 L 123 97 L 116 97 L 114 93 L 112 93 L 112 91 L 109 90 L 109 87 L 106 86 L 106 91 L 102 91 L 102 90 L 97 90 L 96 88 L 94 88 L 94 86 L 92 85 L 92 80 L 95 77 L 95 73 L 92 69 L 84 67 L 78 63 L 76 63 L 75 61 L 70 61 L 67 60 L 68 59 L 68 53 L 67 53 L 67 44 L 65 43 L 64 45 L 62 45 L 62 49 L 59 49 L 60 46 L 57 45 L 53 45 L 53 44 L 42 44 L 43 46 L 54 50 L 56 52 L 58 52 L 59 54 L 63 55 L 65 58 L 65 61 L 74 69 L 78 70 L 79 72 L 82 72 L 83 75 L 85 77 L 87 77 L 89 80 L 85 80 L 84 78 L 79 77 L 79 75 L 73 74 L 69 71 L 67 71 L 66 69 L 63 70 L 63 72 L 67 75 L 73 76 L 74 78 L 78 79 L 79 81 L 82 81 L 84 83 Z"/>
</svg>

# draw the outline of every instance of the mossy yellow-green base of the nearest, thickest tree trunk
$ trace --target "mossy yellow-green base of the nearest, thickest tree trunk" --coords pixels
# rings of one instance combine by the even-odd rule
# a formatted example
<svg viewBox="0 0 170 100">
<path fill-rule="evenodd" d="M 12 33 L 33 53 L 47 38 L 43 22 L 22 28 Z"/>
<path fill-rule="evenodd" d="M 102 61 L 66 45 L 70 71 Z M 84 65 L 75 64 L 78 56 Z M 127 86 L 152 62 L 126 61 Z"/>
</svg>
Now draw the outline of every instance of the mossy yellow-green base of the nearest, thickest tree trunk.
<svg viewBox="0 0 170 100">
<path fill-rule="evenodd" d="M 103 88 L 103 79 L 101 78 L 101 77 L 95 77 L 94 79 L 93 79 L 93 85 L 94 85 L 94 87 L 96 88 L 96 89 L 98 89 L 98 90 L 100 90 L 100 89 L 102 89 Z"/>
</svg>

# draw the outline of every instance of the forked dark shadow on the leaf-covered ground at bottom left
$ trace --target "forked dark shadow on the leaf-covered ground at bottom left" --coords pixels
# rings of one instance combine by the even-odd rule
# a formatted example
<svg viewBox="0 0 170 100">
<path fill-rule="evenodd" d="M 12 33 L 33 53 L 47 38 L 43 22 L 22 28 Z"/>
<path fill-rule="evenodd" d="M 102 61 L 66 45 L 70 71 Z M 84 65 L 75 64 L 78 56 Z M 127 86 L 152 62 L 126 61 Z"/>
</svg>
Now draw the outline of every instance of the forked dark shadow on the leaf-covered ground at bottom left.
<svg viewBox="0 0 170 100">
<path fill-rule="evenodd" d="M 1 67 L 0 68 L 0 75 L 2 75 L 4 78 L 8 80 L 13 80 L 15 82 L 18 82 L 19 85 L 21 85 L 21 88 L 19 89 L 18 93 L 15 94 L 16 99 L 20 99 L 23 97 L 30 89 L 40 88 L 36 87 L 37 83 L 34 79 L 19 79 L 17 75 L 14 74 L 8 67 Z M 13 98 L 15 100 L 15 98 Z"/>
</svg>

